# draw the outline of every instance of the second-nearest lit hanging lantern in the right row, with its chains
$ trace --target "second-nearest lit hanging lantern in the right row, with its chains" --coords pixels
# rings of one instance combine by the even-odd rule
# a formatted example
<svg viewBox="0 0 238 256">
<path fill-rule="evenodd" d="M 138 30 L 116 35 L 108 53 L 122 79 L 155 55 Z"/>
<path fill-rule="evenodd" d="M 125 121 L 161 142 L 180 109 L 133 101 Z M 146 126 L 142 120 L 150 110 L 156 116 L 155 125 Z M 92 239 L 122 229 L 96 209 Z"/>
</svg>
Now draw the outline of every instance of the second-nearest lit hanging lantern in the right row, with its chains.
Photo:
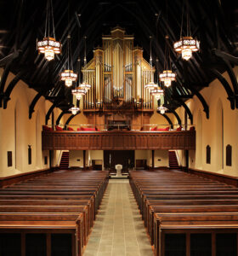
<svg viewBox="0 0 238 256">
<path fill-rule="evenodd" d="M 165 86 L 170 86 L 173 81 L 176 79 L 176 74 L 171 70 L 170 54 L 168 48 L 168 36 L 165 37 L 165 62 L 164 62 L 164 71 L 160 73 L 160 81 L 164 83 Z"/>
</svg>

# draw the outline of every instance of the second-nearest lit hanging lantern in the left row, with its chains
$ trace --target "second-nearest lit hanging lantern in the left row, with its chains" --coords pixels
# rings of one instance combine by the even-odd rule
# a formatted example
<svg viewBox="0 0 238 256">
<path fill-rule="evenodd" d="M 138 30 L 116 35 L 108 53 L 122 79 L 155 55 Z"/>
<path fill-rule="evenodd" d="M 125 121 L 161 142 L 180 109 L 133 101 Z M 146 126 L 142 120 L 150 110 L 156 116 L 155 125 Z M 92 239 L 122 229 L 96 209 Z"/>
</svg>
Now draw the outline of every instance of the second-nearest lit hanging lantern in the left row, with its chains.
<svg viewBox="0 0 238 256">
<path fill-rule="evenodd" d="M 65 85 L 70 87 L 74 81 L 77 80 L 77 73 L 73 72 L 73 64 L 70 59 L 71 57 L 71 35 L 68 35 L 68 42 L 67 42 L 67 69 L 64 72 L 60 73 L 60 80 L 65 81 Z M 71 69 L 70 69 L 71 65 Z"/>
</svg>

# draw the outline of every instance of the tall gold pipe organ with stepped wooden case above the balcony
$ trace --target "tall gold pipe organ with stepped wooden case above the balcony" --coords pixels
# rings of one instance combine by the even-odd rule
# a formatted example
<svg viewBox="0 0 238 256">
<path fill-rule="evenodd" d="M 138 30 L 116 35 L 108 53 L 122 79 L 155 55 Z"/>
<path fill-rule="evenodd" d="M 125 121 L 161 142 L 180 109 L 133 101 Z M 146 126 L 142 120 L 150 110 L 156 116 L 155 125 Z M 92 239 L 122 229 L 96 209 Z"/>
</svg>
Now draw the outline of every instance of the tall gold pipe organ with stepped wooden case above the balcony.
<svg viewBox="0 0 238 256">
<path fill-rule="evenodd" d="M 102 47 L 82 67 L 82 79 L 92 85 L 83 98 L 83 111 L 107 112 L 108 109 L 152 111 L 153 98 L 144 84 L 154 81 L 155 68 L 143 58 L 143 49 L 133 46 L 133 36 L 121 27 L 102 37 Z M 115 104 L 116 102 L 116 104 Z"/>
</svg>

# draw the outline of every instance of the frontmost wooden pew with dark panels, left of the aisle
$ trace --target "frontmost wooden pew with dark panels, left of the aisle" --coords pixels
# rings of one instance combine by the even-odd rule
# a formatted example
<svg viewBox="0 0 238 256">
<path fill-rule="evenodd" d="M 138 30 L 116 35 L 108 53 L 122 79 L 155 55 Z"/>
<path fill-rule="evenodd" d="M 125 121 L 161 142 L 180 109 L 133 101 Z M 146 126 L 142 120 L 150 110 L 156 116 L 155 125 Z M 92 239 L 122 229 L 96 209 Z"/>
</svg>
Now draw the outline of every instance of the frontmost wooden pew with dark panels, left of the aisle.
<svg viewBox="0 0 238 256">
<path fill-rule="evenodd" d="M 26 254 L 38 254 L 42 250 L 42 248 L 37 247 L 39 240 L 33 236 L 41 234 L 43 239 L 40 242 L 45 244 L 41 253 L 50 256 L 52 249 L 57 251 L 56 246 L 52 248 L 51 236 L 54 236 L 53 234 L 68 234 L 70 235 L 71 247 L 66 248 L 65 255 L 71 253 L 72 256 L 81 256 L 83 253 L 82 218 L 82 213 L 0 213 L 0 236 L 4 237 L 6 233 L 12 236 L 19 234 L 20 241 L 18 244 L 20 247 L 16 251 L 21 254 L 14 255 L 25 256 Z M 8 236 L 8 239 L 11 239 L 11 236 Z M 31 247 L 29 241 L 36 246 L 35 249 Z M 60 247 L 60 244 L 58 246 Z M 13 255 L 11 247 L 2 247 L 1 250 L 5 253 L 3 255 Z"/>
</svg>

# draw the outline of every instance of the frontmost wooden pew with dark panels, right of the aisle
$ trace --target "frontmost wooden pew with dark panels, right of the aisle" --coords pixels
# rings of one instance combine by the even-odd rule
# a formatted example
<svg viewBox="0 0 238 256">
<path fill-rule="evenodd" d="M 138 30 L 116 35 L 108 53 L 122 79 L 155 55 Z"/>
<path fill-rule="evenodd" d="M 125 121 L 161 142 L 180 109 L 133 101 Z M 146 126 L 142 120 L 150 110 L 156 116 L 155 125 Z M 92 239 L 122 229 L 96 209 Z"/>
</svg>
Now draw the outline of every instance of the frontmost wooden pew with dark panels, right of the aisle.
<svg viewBox="0 0 238 256">
<path fill-rule="evenodd" d="M 216 248 L 219 246 L 216 243 L 216 236 L 225 233 L 229 235 L 234 234 L 235 243 L 233 243 L 232 247 L 230 247 L 230 244 L 224 244 L 226 250 L 223 252 L 224 255 L 237 255 L 237 232 L 238 212 L 156 213 L 155 253 L 156 256 L 189 256 L 193 255 L 192 251 L 195 251 L 200 253 L 199 255 L 204 256 L 221 255 L 219 254 L 221 251 L 217 250 L 216 252 Z M 204 243 L 207 240 L 207 234 L 210 236 L 210 246 L 204 248 L 204 244 L 201 247 L 200 243 Z M 194 244 L 191 246 L 192 236 L 196 237 L 196 241 L 193 239 Z M 204 236 L 205 239 L 203 239 Z M 181 237 L 184 238 L 184 241 Z M 229 251 L 235 253 L 229 254 Z"/>
</svg>

